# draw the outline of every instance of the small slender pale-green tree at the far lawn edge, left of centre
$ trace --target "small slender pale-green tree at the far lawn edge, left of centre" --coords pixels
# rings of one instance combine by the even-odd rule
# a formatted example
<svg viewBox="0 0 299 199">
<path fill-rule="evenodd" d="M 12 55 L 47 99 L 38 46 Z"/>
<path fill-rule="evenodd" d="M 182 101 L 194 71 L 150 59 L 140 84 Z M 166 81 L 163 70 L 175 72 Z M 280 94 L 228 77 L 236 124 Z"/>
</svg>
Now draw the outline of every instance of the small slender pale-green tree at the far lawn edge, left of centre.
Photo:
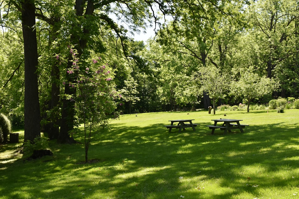
<svg viewBox="0 0 299 199">
<path fill-rule="evenodd" d="M 129 111 L 131 115 L 131 104 L 135 104 L 136 101 L 140 101 L 139 97 L 136 97 L 137 91 L 136 87 L 138 86 L 137 81 L 134 81 L 134 78 L 129 78 L 127 81 L 125 80 L 125 87 L 119 90 L 122 93 L 122 98 L 124 101 L 129 102 Z"/>
</svg>

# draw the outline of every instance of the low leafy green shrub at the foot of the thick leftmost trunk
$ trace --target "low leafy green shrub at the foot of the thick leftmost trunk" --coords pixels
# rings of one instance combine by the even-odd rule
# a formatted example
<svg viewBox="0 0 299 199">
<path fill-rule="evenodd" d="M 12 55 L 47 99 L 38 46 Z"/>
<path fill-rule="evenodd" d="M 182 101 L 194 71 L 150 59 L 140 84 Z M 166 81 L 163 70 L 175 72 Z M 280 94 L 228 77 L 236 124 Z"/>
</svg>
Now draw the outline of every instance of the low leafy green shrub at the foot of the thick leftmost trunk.
<svg viewBox="0 0 299 199">
<path fill-rule="evenodd" d="M 48 149 L 48 138 L 41 136 L 36 137 L 33 141 L 27 140 L 24 142 L 23 152 L 25 157 L 29 157 L 33 154 L 34 150 Z"/>
</svg>

